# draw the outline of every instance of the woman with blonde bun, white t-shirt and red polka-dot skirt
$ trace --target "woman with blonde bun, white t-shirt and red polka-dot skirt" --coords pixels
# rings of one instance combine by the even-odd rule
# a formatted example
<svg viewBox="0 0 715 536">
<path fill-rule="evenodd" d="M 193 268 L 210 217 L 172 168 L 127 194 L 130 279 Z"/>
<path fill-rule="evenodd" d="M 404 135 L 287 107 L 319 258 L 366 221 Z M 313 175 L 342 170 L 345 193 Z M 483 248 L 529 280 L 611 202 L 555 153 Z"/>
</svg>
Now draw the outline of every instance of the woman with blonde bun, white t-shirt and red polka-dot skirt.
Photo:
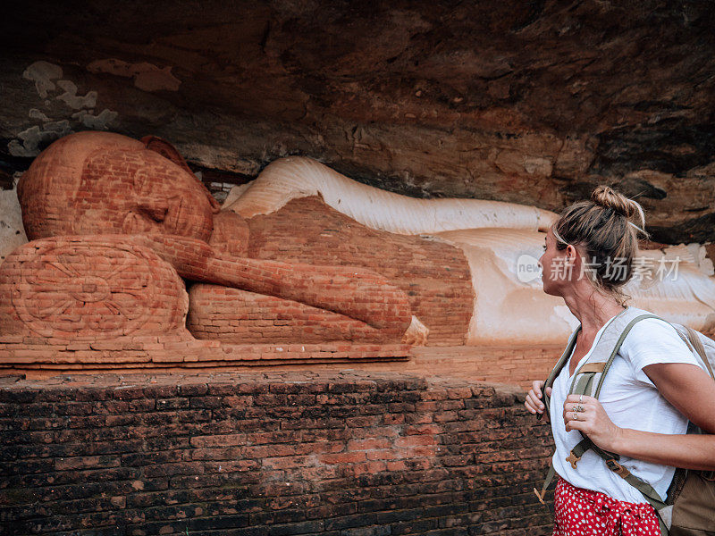
<svg viewBox="0 0 715 536">
<path fill-rule="evenodd" d="M 568 395 L 606 325 L 626 306 L 621 288 L 633 273 L 643 209 L 611 188 L 569 206 L 546 235 L 543 290 L 564 299 L 581 322 L 576 347 L 554 381 L 551 429 L 559 474 L 554 534 L 652 534 L 655 510 L 630 484 L 587 451 L 576 467 L 566 458 L 583 435 L 665 497 L 675 467 L 715 469 L 715 436 L 686 435 L 688 420 L 715 432 L 715 389 L 675 329 L 646 319 L 635 324 L 603 383 L 599 399 Z M 617 269 L 618 267 L 618 269 Z M 534 381 L 526 409 L 543 414 L 543 381 Z"/>
</svg>

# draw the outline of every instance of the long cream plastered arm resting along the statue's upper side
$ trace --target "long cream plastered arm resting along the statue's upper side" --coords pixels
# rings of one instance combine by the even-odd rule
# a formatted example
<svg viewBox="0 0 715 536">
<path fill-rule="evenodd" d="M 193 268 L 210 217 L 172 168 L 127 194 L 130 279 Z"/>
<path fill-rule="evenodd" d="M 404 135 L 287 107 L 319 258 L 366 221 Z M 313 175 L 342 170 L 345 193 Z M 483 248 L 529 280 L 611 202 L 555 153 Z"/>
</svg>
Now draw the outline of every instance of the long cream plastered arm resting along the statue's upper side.
<svg viewBox="0 0 715 536">
<path fill-rule="evenodd" d="M 290 199 L 320 194 L 327 205 L 376 230 L 419 234 L 506 227 L 545 230 L 556 214 L 533 206 L 481 199 L 416 199 L 350 180 L 310 158 L 270 163 L 226 209 L 251 218 L 270 214 Z"/>
</svg>

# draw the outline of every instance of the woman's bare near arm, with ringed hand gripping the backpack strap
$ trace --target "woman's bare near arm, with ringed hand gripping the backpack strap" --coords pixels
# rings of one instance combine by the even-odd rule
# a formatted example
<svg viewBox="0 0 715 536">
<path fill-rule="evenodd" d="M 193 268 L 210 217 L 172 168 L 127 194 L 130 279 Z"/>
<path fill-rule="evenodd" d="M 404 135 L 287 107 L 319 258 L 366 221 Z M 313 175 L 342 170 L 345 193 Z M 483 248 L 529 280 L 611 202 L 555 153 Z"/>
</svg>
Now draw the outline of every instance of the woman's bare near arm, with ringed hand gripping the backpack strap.
<svg viewBox="0 0 715 536">
<path fill-rule="evenodd" d="M 715 381 L 694 364 L 649 364 L 643 370 L 670 404 L 707 433 L 672 435 L 619 428 L 596 398 L 583 397 L 584 411 L 575 412 L 579 395 L 569 395 L 564 404 L 567 431 L 581 431 L 598 447 L 619 455 L 715 470 Z"/>
</svg>

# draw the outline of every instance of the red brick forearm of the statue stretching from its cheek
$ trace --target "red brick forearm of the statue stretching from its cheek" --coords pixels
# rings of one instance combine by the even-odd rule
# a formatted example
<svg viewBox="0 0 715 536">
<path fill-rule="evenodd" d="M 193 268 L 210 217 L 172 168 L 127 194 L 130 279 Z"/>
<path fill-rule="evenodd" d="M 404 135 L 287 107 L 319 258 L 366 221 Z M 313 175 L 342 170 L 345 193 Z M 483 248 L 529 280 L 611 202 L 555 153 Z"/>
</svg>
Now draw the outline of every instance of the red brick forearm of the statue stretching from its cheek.
<svg viewBox="0 0 715 536">
<path fill-rule="evenodd" d="M 365 268 L 314 266 L 232 257 L 198 239 L 136 235 L 172 264 L 184 279 L 282 297 L 366 322 L 405 331 L 411 320 L 407 295 Z"/>
</svg>

